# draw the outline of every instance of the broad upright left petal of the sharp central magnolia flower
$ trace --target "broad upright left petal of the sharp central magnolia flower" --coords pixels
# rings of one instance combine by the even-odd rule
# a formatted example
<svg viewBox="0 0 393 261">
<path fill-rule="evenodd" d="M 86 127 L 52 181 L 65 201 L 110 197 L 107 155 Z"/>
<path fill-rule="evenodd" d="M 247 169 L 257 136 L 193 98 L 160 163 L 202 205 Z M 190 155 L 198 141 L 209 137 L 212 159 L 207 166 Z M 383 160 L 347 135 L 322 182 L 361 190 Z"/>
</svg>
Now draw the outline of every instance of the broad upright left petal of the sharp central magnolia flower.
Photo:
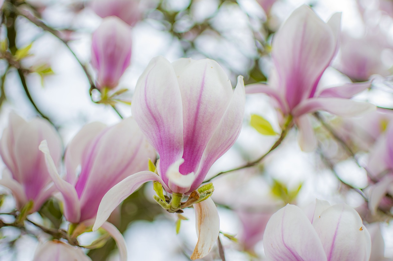
<svg viewBox="0 0 393 261">
<path fill-rule="evenodd" d="M 169 165 L 183 155 L 182 96 L 173 66 L 162 56 L 151 60 L 136 83 L 132 116 L 160 154 L 160 169 L 165 183 Z"/>
</svg>

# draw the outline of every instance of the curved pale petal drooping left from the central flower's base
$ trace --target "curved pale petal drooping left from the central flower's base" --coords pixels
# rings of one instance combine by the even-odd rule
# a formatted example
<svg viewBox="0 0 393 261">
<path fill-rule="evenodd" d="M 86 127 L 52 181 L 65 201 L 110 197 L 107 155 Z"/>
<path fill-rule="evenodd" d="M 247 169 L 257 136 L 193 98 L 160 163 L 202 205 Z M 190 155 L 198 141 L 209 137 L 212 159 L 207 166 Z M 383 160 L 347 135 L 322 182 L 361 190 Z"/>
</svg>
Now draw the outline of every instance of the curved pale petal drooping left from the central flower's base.
<svg viewBox="0 0 393 261">
<path fill-rule="evenodd" d="M 110 213 L 112 213 L 112 211 L 124 199 L 134 193 L 134 191 L 136 191 L 142 184 L 153 180 L 159 181 L 163 184 L 162 179 L 154 172 L 141 171 L 123 179 L 118 184 L 114 185 L 114 187 L 112 187 L 110 190 L 108 190 L 99 204 L 93 231 L 101 227 L 101 225 L 108 219 Z M 166 186 L 164 184 L 163 187 L 166 190 Z"/>
</svg>

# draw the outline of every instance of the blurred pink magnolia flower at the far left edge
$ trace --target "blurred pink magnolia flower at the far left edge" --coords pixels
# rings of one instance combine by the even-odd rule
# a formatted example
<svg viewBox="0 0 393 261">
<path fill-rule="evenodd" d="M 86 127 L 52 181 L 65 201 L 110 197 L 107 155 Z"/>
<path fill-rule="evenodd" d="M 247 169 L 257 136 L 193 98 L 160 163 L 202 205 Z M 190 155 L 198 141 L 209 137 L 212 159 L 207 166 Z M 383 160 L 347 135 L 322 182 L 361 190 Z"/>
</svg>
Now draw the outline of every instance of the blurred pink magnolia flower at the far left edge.
<svg viewBox="0 0 393 261">
<path fill-rule="evenodd" d="M 23 208 L 28 201 L 33 201 L 30 213 L 39 210 L 55 191 L 44 156 L 38 150 L 44 139 L 53 151 L 56 168 L 61 159 L 61 139 L 55 128 L 44 119 L 35 118 L 26 122 L 11 113 L 8 127 L 0 140 L 0 155 L 7 166 L 0 185 L 11 190 L 18 209 Z"/>
</svg>

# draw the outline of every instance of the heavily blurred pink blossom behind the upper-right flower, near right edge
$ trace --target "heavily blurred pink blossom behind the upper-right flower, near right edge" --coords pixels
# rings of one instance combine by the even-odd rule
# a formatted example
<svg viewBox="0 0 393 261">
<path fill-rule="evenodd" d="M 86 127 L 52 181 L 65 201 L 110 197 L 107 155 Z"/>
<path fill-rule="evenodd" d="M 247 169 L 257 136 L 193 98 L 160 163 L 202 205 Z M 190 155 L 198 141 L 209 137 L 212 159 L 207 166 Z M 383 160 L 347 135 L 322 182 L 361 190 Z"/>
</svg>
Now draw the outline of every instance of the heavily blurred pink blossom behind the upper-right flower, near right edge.
<svg viewBox="0 0 393 261">
<path fill-rule="evenodd" d="M 340 59 L 336 68 L 356 81 L 366 81 L 373 74 L 389 75 L 389 66 L 382 61 L 383 51 L 387 50 L 386 35 L 367 34 L 362 38 L 353 38 L 342 34 Z"/>
</svg>

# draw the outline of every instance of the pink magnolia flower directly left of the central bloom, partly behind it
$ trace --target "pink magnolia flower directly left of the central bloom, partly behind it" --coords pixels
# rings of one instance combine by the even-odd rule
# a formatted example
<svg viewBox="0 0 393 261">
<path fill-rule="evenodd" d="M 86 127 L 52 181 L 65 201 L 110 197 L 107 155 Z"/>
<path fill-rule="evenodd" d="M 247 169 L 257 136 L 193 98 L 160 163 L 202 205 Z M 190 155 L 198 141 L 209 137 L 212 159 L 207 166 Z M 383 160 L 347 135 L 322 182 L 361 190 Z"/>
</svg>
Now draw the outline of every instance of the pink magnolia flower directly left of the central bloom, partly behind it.
<svg viewBox="0 0 393 261">
<path fill-rule="evenodd" d="M 65 180 L 54 167 L 46 141 L 42 141 L 40 150 L 64 198 L 64 216 L 71 223 L 85 226 L 93 225 L 105 193 L 127 176 L 148 169 L 148 159 L 156 155 L 132 118 L 112 127 L 97 122 L 85 125 L 66 150 Z M 120 255 L 126 258 L 121 234 L 109 223 L 103 228 L 118 241 Z"/>
</svg>

